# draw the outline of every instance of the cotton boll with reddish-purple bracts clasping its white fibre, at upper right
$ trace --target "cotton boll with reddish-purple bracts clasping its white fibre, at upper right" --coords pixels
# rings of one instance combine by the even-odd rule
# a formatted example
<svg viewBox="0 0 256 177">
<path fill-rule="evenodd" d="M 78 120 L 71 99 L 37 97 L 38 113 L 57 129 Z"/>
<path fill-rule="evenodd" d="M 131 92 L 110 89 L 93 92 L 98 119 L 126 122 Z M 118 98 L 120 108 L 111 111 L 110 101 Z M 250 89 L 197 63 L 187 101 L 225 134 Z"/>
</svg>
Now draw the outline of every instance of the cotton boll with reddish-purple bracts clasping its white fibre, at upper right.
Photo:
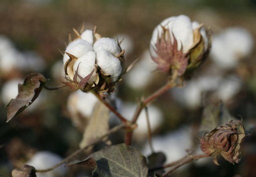
<svg viewBox="0 0 256 177">
<path fill-rule="evenodd" d="M 206 57 L 210 48 L 209 35 L 202 24 L 191 22 L 185 15 L 164 19 L 153 30 L 152 59 L 158 69 L 172 77 L 196 68 Z"/>
</svg>

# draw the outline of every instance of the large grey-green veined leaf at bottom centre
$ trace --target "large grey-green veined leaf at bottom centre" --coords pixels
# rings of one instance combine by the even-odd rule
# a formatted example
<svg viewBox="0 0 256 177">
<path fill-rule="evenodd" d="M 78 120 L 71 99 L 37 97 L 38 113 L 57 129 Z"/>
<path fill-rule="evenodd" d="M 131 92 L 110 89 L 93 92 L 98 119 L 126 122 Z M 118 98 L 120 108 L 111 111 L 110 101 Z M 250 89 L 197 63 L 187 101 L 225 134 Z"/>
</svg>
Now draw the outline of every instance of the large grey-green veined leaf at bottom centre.
<svg viewBox="0 0 256 177">
<path fill-rule="evenodd" d="M 72 161 L 67 166 L 82 164 L 94 168 L 92 176 L 147 176 L 146 158 L 134 147 L 125 144 L 111 145 L 92 153 L 81 161 Z"/>
</svg>

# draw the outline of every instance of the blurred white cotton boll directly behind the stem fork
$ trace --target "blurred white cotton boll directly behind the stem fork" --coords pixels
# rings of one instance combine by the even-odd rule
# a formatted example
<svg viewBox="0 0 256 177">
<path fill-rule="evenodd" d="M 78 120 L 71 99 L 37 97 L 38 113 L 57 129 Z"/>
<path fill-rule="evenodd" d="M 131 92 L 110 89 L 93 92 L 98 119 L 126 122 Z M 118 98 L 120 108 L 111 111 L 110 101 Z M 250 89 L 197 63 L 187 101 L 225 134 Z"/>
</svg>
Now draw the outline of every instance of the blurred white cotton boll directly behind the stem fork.
<svg viewBox="0 0 256 177">
<path fill-rule="evenodd" d="M 133 113 L 135 112 L 136 104 L 132 103 L 123 103 L 121 105 L 121 114 L 127 118 L 128 120 L 131 120 Z M 161 111 L 155 107 L 150 105 L 148 108 L 148 116 L 149 116 L 149 123 L 150 128 L 152 131 L 156 130 L 158 128 L 162 121 L 162 113 Z M 145 110 L 142 110 L 141 113 L 138 116 L 137 119 L 137 128 L 134 130 L 134 134 L 136 134 L 134 137 L 137 140 L 145 140 L 147 135 L 147 122 L 146 122 L 146 113 Z"/>
</svg>

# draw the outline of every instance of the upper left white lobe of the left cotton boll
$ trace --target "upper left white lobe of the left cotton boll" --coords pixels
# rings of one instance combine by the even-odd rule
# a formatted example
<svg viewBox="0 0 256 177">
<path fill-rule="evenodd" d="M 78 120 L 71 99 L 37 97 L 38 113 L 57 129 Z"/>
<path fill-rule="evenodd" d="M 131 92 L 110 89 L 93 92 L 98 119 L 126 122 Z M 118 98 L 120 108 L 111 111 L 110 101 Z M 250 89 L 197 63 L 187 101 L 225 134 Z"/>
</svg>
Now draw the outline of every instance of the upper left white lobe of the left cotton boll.
<svg viewBox="0 0 256 177">
<path fill-rule="evenodd" d="M 91 44 L 89 44 L 89 42 L 87 42 L 81 38 L 77 38 L 67 45 L 65 52 L 68 52 L 68 53 L 76 56 L 77 58 L 79 58 L 79 57 L 85 55 L 88 51 L 92 51 L 92 50 L 93 50 L 93 48 L 92 48 Z M 63 63 L 65 64 L 65 62 L 68 59 L 69 59 L 69 56 L 66 53 L 64 53 Z"/>
</svg>

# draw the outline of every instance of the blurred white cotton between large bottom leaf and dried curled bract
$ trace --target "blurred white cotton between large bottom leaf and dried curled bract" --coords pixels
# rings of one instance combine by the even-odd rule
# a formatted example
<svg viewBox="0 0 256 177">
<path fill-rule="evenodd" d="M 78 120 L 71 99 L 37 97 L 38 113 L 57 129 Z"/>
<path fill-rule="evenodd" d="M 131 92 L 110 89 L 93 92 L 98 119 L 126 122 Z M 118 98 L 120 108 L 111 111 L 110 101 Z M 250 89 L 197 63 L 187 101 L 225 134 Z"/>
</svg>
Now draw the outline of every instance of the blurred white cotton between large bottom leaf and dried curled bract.
<svg viewBox="0 0 256 177">
<path fill-rule="evenodd" d="M 155 152 L 161 151 L 166 155 L 165 163 L 178 160 L 187 155 L 185 149 L 189 149 L 192 145 L 191 134 L 190 127 L 182 127 L 163 136 L 153 136 L 153 150 Z M 145 156 L 152 153 L 148 143 L 144 145 L 142 153 Z"/>
</svg>

